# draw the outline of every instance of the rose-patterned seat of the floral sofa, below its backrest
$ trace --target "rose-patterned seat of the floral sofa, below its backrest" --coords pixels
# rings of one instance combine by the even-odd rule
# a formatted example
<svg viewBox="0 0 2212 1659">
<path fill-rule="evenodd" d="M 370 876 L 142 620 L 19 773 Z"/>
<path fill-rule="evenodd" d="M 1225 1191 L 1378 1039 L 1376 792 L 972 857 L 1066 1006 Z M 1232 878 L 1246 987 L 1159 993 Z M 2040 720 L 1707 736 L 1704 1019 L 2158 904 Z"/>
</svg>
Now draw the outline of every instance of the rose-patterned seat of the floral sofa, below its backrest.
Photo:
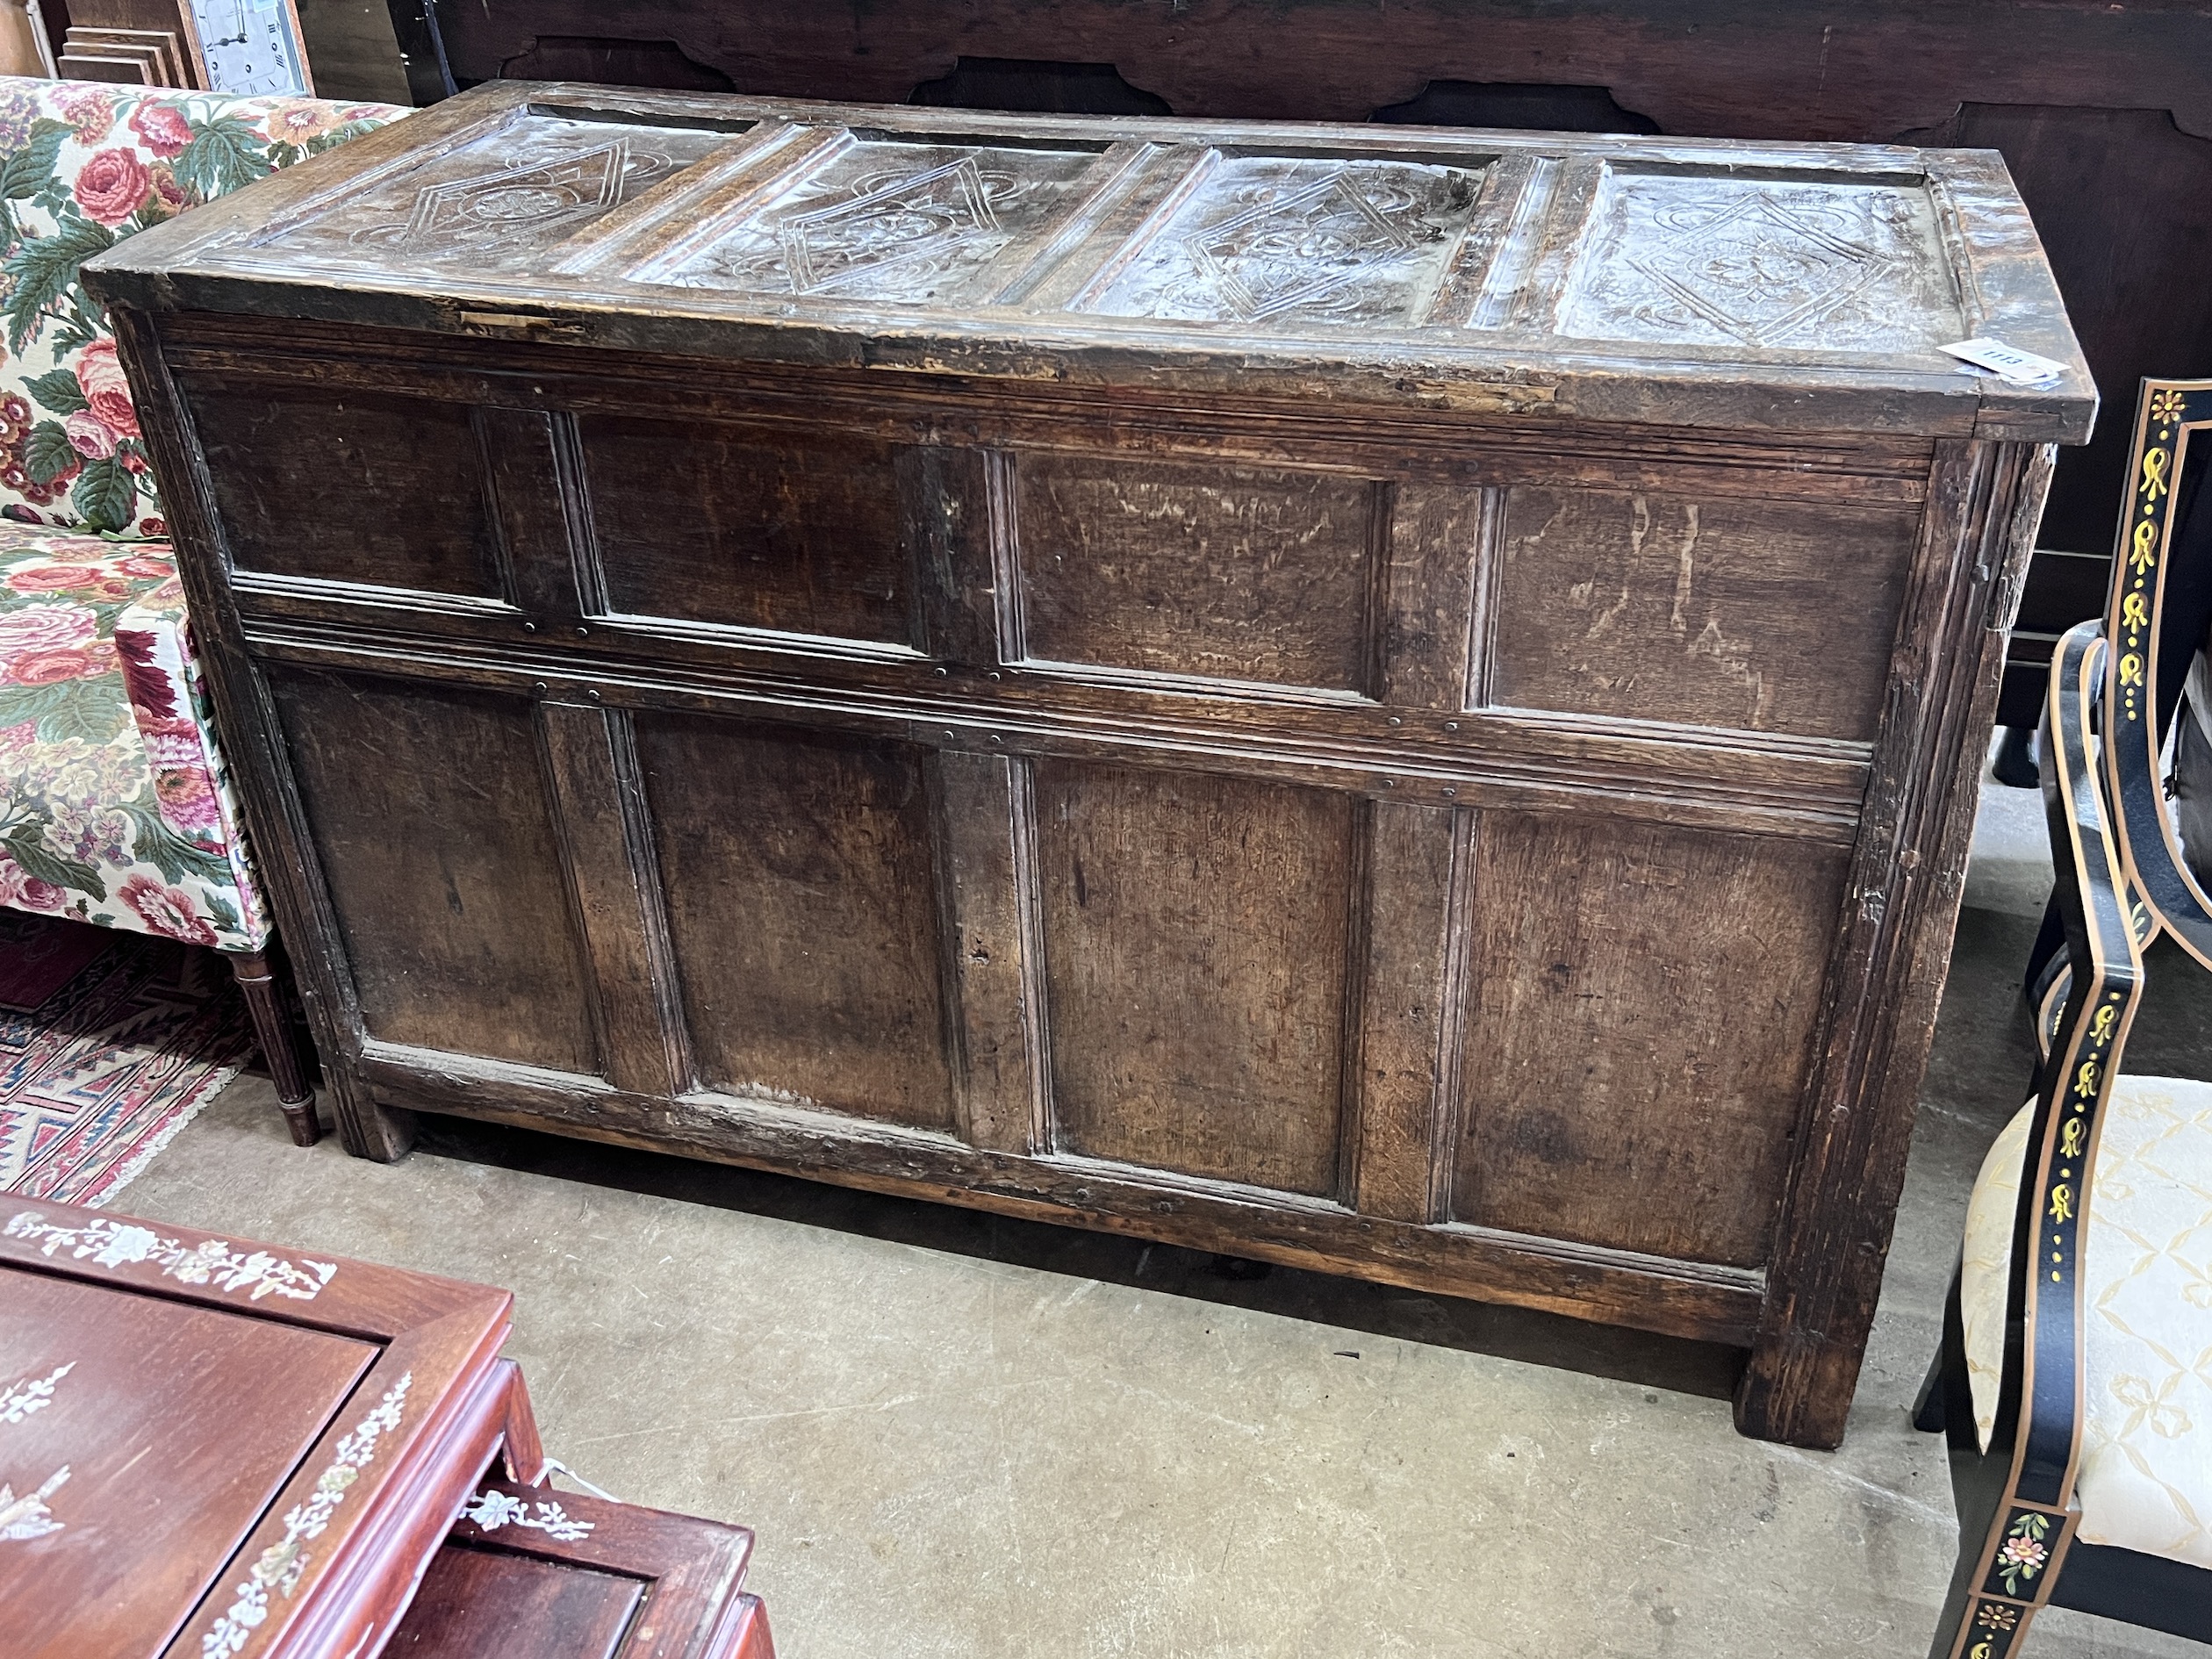
<svg viewBox="0 0 2212 1659">
<path fill-rule="evenodd" d="M 0 524 L 0 902 L 257 951 L 166 542 Z"/>
</svg>

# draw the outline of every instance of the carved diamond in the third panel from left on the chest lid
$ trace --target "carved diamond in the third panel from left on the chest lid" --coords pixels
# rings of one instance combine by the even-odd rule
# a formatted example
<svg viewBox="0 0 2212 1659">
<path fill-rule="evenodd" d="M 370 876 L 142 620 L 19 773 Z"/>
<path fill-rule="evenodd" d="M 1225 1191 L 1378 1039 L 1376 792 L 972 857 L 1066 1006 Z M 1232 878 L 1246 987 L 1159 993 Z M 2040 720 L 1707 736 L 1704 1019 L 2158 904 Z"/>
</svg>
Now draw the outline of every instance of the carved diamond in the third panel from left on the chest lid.
<svg viewBox="0 0 2212 1659">
<path fill-rule="evenodd" d="M 1345 175 L 1183 237 L 1183 252 L 1245 323 L 1312 305 L 1413 248 Z"/>
</svg>

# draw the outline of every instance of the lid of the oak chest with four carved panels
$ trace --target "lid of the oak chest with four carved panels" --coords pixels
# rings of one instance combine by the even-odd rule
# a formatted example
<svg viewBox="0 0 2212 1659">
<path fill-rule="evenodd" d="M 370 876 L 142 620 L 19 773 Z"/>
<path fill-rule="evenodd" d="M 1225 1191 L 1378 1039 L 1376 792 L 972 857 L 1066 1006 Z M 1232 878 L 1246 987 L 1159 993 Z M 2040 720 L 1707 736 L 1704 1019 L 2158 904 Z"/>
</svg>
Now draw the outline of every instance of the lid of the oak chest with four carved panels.
<svg viewBox="0 0 2212 1659">
<path fill-rule="evenodd" d="M 493 82 L 131 237 L 102 299 L 657 356 L 2081 442 L 1991 150 Z M 2066 363 L 1969 369 L 1969 336 Z"/>
</svg>

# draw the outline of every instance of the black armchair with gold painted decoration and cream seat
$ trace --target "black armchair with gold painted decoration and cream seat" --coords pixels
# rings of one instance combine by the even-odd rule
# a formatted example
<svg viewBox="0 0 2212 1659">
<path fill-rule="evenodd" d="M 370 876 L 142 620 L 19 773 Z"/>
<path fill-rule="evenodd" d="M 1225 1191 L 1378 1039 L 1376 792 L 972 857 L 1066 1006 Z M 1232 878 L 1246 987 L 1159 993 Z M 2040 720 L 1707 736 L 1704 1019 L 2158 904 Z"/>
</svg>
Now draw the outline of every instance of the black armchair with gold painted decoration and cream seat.
<svg viewBox="0 0 2212 1659">
<path fill-rule="evenodd" d="M 2053 655 L 2042 787 L 2066 967 L 2035 1099 L 1975 1181 L 1916 1413 L 1949 1436 L 1960 1515 L 1933 1659 L 2004 1659 L 2044 1606 L 2212 1641 L 2212 1084 L 2119 1071 L 2150 940 L 2212 969 L 2157 708 L 2192 434 L 2212 445 L 2212 380 L 2146 383 L 2106 617 Z"/>
</svg>

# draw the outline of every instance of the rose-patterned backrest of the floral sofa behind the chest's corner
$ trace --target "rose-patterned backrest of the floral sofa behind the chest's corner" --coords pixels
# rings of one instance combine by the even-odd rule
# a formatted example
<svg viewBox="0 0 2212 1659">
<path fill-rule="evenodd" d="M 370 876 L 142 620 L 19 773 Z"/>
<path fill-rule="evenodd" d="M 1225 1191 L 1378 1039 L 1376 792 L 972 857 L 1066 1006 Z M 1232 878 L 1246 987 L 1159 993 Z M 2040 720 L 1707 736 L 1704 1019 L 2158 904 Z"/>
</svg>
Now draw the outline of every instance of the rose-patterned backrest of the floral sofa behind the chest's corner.
<svg viewBox="0 0 2212 1659">
<path fill-rule="evenodd" d="M 80 268 L 405 113 L 0 77 L 0 515 L 161 535 L 131 387 Z"/>
</svg>

